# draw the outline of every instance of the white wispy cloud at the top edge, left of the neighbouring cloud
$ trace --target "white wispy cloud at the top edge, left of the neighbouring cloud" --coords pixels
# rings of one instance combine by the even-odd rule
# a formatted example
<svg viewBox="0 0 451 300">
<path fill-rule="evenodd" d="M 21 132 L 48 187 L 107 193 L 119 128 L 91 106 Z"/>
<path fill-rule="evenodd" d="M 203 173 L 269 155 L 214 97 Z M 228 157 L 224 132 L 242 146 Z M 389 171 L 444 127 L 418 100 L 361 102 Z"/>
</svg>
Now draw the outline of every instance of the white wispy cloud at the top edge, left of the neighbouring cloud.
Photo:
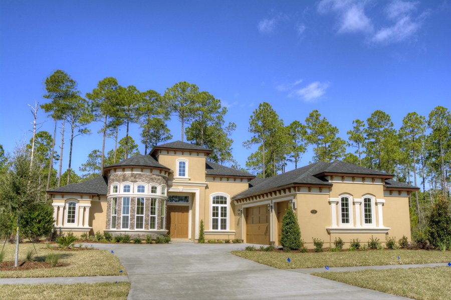
<svg viewBox="0 0 451 300">
<path fill-rule="evenodd" d="M 318 12 L 336 14 L 338 33 L 368 33 L 373 31 L 373 24 L 365 15 L 366 3 L 357 0 L 322 0 L 318 4 Z"/>
</svg>

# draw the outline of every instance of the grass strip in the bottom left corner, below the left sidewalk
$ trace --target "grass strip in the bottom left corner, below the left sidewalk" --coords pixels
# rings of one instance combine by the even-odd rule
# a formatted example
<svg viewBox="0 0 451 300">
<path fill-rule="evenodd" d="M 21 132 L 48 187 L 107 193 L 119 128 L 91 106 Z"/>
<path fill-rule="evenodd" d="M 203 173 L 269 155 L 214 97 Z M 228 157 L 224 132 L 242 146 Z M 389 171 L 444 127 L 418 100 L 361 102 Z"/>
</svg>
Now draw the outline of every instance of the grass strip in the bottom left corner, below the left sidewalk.
<svg viewBox="0 0 451 300">
<path fill-rule="evenodd" d="M 5 284 L 0 285 L 2 299 L 127 299 L 130 282 L 102 282 L 78 284 Z"/>
</svg>

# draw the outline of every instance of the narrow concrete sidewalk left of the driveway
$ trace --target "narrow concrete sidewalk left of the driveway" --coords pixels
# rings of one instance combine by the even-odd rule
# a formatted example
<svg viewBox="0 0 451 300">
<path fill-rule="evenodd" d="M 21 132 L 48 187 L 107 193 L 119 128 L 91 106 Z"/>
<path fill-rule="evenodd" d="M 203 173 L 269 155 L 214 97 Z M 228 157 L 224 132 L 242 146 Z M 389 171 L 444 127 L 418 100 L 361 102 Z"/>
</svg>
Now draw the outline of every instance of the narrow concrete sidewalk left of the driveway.
<svg viewBox="0 0 451 300">
<path fill-rule="evenodd" d="M 128 276 L 1 278 L 0 284 L 73 284 L 130 281 Z"/>
</svg>

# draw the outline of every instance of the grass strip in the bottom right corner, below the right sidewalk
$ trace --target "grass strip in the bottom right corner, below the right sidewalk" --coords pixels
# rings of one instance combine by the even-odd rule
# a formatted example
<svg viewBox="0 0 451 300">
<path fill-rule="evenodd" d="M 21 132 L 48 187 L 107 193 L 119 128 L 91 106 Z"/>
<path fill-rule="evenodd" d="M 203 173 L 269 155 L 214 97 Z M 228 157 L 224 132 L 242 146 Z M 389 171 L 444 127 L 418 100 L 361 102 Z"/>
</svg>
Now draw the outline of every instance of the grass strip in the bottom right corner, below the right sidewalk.
<svg viewBox="0 0 451 300">
<path fill-rule="evenodd" d="M 314 275 L 415 299 L 451 299 L 451 267 L 448 266 L 324 272 Z"/>
</svg>

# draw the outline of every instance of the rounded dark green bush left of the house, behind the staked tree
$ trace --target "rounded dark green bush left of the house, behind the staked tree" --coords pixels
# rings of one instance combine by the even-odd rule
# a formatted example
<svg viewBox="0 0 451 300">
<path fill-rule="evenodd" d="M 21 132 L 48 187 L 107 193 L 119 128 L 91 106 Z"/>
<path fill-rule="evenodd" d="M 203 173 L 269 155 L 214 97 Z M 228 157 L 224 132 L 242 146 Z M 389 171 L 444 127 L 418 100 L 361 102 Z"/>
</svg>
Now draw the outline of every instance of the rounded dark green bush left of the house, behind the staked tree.
<svg viewBox="0 0 451 300">
<path fill-rule="evenodd" d="M 50 235 L 53 224 L 53 207 L 43 203 L 35 204 L 21 216 L 21 233 L 32 241 L 39 241 L 41 236 Z"/>
</svg>

